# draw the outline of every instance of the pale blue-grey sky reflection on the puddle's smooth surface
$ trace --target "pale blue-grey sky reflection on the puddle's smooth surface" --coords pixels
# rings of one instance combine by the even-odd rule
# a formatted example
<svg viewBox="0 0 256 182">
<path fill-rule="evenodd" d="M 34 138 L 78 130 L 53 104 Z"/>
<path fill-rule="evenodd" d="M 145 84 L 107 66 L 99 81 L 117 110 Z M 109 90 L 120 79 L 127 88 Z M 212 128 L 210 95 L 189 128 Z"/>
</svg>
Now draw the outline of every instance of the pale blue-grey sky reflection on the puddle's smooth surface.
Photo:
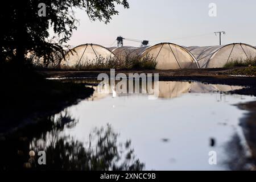
<svg viewBox="0 0 256 182">
<path fill-rule="evenodd" d="M 251 100 L 254 97 L 196 91 L 164 100 L 148 100 L 138 94 L 113 98 L 109 94 L 69 107 L 79 123 L 65 133 L 88 141 L 94 127 L 110 123 L 120 133 L 119 140 L 131 139 L 146 169 L 226 169 L 221 164 L 228 155 L 224 146 L 235 133 L 242 138 L 238 122 L 245 113 L 233 104 Z M 210 138 L 216 140 L 216 146 L 210 147 Z M 217 152 L 217 166 L 208 164 L 212 150 Z"/>
</svg>

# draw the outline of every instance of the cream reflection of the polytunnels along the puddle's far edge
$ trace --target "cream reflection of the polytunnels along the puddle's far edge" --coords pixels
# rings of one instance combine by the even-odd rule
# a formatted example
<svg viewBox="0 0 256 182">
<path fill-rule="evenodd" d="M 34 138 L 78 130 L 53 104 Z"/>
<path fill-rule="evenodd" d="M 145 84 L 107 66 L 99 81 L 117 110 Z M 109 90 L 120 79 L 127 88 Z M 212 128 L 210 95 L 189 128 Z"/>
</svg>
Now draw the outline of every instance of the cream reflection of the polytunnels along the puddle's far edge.
<svg viewBox="0 0 256 182">
<path fill-rule="evenodd" d="M 93 86 L 95 92 L 93 96 L 89 98 L 89 100 L 100 100 L 102 98 L 108 97 L 112 94 L 114 97 L 122 97 L 127 96 L 129 94 L 145 94 L 152 95 L 155 93 L 148 93 L 148 88 L 152 88 L 155 92 L 154 86 L 158 86 L 158 97 L 163 99 L 175 98 L 179 97 L 185 93 L 213 93 L 213 92 L 230 92 L 232 90 L 240 90 L 243 89 L 242 86 L 230 86 L 230 85 L 213 85 L 213 84 L 203 84 L 201 82 L 176 82 L 176 81 L 159 81 L 158 84 L 152 82 L 152 85 L 147 84 L 139 84 L 139 92 L 129 93 L 129 85 L 132 85 L 131 82 L 127 81 L 127 92 L 119 93 L 117 88 L 113 88 L 112 86 L 103 86 L 99 92 L 98 86 Z M 133 83 L 133 85 L 135 85 Z M 135 89 L 134 89 L 135 91 Z M 113 94 L 114 93 L 114 94 Z"/>
</svg>

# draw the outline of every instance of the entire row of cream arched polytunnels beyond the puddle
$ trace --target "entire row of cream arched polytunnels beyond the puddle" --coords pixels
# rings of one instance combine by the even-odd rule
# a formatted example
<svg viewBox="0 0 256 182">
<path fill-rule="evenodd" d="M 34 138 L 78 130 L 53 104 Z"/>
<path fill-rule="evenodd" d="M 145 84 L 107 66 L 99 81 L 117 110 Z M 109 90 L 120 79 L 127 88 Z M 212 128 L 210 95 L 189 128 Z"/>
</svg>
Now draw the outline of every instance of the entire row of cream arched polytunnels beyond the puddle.
<svg viewBox="0 0 256 182">
<path fill-rule="evenodd" d="M 233 43 L 225 46 L 182 47 L 173 43 L 160 43 L 147 47 L 111 47 L 97 44 L 82 44 L 70 49 L 61 60 L 61 67 L 75 68 L 105 63 L 117 59 L 125 61 L 134 57 L 143 61 L 150 56 L 156 69 L 222 68 L 230 61 L 255 59 L 256 48 L 248 44 Z"/>
</svg>

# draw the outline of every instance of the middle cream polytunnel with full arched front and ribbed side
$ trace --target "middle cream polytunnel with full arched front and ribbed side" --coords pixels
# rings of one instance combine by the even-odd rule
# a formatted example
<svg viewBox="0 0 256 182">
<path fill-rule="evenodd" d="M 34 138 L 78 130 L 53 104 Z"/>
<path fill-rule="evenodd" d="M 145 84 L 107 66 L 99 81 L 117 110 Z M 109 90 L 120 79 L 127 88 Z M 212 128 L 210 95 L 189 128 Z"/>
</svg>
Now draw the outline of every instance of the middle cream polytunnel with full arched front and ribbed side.
<svg viewBox="0 0 256 182">
<path fill-rule="evenodd" d="M 186 49 L 172 43 L 160 43 L 155 46 L 147 47 L 118 47 L 109 48 L 118 59 L 123 60 L 126 57 L 150 56 L 156 61 L 156 69 L 184 69 L 199 68 L 195 57 Z"/>
</svg>

